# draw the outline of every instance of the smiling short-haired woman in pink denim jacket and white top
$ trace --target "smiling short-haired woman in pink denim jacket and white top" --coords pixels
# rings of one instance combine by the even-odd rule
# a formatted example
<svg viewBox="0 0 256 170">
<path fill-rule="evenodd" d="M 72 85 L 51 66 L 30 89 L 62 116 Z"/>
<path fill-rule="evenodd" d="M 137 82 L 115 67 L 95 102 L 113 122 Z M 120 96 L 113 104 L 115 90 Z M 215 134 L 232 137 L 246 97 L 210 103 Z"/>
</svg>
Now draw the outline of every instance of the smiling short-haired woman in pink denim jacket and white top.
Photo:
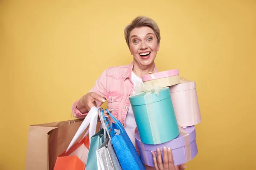
<svg viewBox="0 0 256 170">
<path fill-rule="evenodd" d="M 73 104 L 72 110 L 74 116 L 82 119 L 90 108 L 100 107 L 108 100 L 108 110 L 120 120 L 135 146 L 136 122 L 129 96 L 134 94 L 134 87 L 137 82 L 142 82 L 141 77 L 144 74 L 151 71 L 157 72 L 154 59 L 160 48 L 160 30 L 150 18 L 137 17 L 126 26 L 124 34 L 134 61 L 130 65 L 106 69 L 96 80 L 90 92 Z M 105 116 L 108 116 L 107 112 Z M 113 119 L 110 120 L 113 121 Z M 169 148 L 163 148 L 163 161 L 160 150 L 157 149 L 157 156 L 154 152 L 152 155 L 156 170 L 184 170 L 186 168 L 184 164 L 174 166 L 172 151 Z"/>
</svg>

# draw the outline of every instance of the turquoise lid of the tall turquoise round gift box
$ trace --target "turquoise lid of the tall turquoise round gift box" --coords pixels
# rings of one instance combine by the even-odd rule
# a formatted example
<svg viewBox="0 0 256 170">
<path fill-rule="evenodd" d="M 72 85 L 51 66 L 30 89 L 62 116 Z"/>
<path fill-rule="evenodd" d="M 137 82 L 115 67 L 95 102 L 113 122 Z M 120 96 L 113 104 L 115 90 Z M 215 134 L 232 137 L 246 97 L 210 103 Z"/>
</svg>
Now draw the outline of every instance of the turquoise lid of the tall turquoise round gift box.
<svg viewBox="0 0 256 170">
<path fill-rule="evenodd" d="M 130 99 L 131 105 L 133 106 L 145 105 L 145 99 L 144 99 L 145 95 L 147 95 L 146 92 L 134 94 L 133 96 L 130 96 L 129 99 Z M 171 96 L 169 88 L 160 88 L 158 96 L 154 92 L 151 92 L 151 94 L 149 95 L 151 96 L 152 102 L 159 102 Z"/>
</svg>

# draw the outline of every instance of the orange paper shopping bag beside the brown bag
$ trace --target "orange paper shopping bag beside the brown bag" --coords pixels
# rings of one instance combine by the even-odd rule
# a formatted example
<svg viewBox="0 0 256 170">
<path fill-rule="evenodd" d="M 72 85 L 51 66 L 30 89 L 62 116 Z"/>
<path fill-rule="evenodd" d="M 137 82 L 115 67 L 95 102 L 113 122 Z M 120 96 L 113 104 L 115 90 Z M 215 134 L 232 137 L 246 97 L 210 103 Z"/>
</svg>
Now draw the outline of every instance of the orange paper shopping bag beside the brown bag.
<svg viewBox="0 0 256 170">
<path fill-rule="evenodd" d="M 84 170 L 89 151 L 89 138 L 76 142 L 70 150 L 58 156 L 54 170 Z"/>
</svg>

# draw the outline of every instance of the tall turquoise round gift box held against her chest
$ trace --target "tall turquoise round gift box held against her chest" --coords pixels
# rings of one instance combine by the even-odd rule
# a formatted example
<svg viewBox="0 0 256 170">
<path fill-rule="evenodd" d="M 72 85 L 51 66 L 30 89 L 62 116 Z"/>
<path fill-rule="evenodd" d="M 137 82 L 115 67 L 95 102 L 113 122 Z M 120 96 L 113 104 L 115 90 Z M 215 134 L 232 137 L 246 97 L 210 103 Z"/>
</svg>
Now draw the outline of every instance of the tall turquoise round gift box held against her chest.
<svg viewBox="0 0 256 170">
<path fill-rule="evenodd" d="M 179 135 L 169 88 L 160 88 L 158 95 L 143 92 L 129 99 L 141 142 L 161 144 Z"/>
</svg>

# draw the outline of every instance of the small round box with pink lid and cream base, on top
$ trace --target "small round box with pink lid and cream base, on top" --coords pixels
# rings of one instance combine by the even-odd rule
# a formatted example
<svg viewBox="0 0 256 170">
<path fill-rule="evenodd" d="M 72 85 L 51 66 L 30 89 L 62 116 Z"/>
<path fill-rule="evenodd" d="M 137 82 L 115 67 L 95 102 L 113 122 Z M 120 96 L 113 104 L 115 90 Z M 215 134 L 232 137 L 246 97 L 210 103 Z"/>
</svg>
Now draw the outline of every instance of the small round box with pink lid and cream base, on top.
<svg viewBox="0 0 256 170">
<path fill-rule="evenodd" d="M 180 83 L 179 70 L 173 69 L 168 71 L 150 72 L 142 77 L 143 82 L 148 82 L 157 87 L 169 87 Z"/>
</svg>

